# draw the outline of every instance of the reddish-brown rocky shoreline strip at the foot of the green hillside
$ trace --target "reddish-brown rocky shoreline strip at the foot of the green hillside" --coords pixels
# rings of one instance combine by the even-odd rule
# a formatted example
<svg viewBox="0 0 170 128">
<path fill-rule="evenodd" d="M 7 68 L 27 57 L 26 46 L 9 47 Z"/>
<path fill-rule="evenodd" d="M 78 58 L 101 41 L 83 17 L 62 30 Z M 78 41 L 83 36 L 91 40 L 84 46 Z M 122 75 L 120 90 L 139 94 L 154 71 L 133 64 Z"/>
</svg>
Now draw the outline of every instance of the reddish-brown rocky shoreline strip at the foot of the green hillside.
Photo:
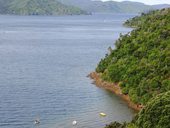
<svg viewBox="0 0 170 128">
<path fill-rule="evenodd" d="M 93 83 L 97 87 L 105 89 L 105 90 L 109 90 L 109 91 L 113 92 L 114 94 L 116 94 L 117 96 L 121 97 L 127 103 L 127 105 L 130 108 L 134 109 L 135 111 L 139 112 L 144 107 L 142 105 L 133 103 L 130 100 L 130 97 L 128 95 L 122 94 L 121 88 L 119 87 L 118 83 L 110 83 L 110 82 L 103 81 L 101 79 L 101 75 L 96 72 L 91 72 L 88 75 L 88 77 L 90 77 L 93 80 Z"/>
</svg>

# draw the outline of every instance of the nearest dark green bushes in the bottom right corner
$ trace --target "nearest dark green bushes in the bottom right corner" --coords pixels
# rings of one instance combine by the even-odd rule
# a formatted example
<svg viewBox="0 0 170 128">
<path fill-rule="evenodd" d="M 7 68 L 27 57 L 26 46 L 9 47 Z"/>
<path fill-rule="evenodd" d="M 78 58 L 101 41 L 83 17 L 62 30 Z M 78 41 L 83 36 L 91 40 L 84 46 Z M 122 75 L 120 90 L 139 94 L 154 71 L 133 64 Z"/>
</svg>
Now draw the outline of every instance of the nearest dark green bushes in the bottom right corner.
<svg viewBox="0 0 170 128">
<path fill-rule="evenodd" d="M 169 120 L 170 91 L 150 100 L 131 123 L 114 122 L 105 128 L 170 128 Z"/>
</svg>

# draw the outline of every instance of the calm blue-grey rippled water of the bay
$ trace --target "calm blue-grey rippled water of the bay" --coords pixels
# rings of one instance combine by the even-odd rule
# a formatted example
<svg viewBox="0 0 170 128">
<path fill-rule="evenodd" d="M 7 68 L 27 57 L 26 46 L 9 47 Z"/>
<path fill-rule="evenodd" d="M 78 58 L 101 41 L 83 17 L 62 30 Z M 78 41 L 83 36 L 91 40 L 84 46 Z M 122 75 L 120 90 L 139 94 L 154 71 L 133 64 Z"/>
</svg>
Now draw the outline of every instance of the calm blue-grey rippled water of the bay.
<svg viewBox="0 0 170 128">
<path fill-rule="evenodd" d="M 0 16 L 0 128 L 72 128 L 73 120 L 76 128 L 102 128 L 131 120 L 124 101 L 86 76 L 119 33 L 130 31 L 122 23 L 132 16 Z"/>
</svg>

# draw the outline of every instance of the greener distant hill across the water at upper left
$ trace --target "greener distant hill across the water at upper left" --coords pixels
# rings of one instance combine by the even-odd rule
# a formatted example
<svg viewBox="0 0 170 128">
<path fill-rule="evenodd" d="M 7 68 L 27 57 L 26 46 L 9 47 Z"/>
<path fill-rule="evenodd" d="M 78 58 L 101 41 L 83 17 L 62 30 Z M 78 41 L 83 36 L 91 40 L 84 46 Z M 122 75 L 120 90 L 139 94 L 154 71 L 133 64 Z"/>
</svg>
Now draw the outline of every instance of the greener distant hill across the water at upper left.
<svg viewBox="0 0 170 128">
<path fill-rule="evenodd" d="M 57 0 L 0 0 L 0 14 L 15 15 L 73 15 L 87 14 L 74 6 Z"/>
</svg>

